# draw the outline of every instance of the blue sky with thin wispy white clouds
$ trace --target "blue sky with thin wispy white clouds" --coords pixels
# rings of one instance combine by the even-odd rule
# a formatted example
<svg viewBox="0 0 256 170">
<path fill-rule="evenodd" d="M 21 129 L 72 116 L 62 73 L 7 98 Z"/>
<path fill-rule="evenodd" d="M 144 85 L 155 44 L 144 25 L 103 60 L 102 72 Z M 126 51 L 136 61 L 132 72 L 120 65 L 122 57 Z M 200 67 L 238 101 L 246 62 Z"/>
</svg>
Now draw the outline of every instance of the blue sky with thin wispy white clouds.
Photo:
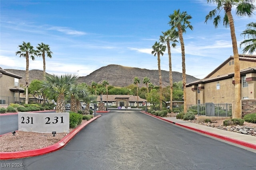
<svg viewBox="0 0 256 170">
<path fill-rule="evenodd" d="M 152 45 L 170 29 L 168 16 L 180 9 L 192 16 L 194 27 L 183 34 L 186 74 L 204 78 L 233 55 L 230 29 L 222 23 L 217 29 L 212 21 L 204 23 L 214 8 L 206 0 L 0 0 L 0 67 L 26 69 L 25 59 L 15 55 L 25 41 L 34 47 L 41 42 L 50 46 L 52 59 L 46 58 L 50 74 L 86 76 L 108 64 L 158 70 Z M 256 16 L 233 16 L 240 44 L 244 40 L 240 33 Z M 172 71 L 182 72 L 180 43 L 171 53 Z M 30 59 L 32 69 L 43 70 L 42 58 Z M 169 70 L 167 50 L 161 70 Z"/>
</svg>

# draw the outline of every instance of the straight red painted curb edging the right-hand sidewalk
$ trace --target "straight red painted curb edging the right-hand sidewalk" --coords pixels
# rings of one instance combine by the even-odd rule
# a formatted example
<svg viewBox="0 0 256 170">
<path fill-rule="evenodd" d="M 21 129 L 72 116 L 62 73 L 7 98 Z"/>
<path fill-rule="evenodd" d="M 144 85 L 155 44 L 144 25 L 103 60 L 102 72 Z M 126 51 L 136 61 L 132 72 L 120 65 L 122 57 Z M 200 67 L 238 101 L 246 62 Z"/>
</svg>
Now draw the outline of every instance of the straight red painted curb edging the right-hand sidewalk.
<svg viewBox="0 0 256 170">
<path fill-rule="evenodd" d="M 194 127 L 182 125 L 182 124 L 180 124 L 180 123 L 175 123 L 175 122 L 173 122 L 173 121 L 163 119 L 162 117 L 158 117 L 158 116 L 156 116 L 156 115 L 152 115 L 152 114 L 147 113 L 147 112 L 145 112 L 145 111 L 141 111 L 141 112 L 142 112 L 142 113 L 145 113 L 145 114 L 147 114 L 147 115 L 149 115 L 149 116 L 156 117 L 156 118 L 158 118 L 158 119 L 161 119 L 161 120 L 164 120 L 164 121 L 173 123 L 173 124 L 178 125 L 178 126 L 181 126 L 181 127 L 185 127 L 185 128 L 187 128 L 187 129 L 190 129 L 190 130 L 193 130 L 193 131 L 197 131 L 197 132 L 200 132 L 200 133 L 204 133 L 204 134 L 206 134 L 206 135 L 209 135 L 209 136 L 212 136 L 212 137 L 216 137 L 216 138 L 218 138 L 218 139 L 222 139 L 222 140 L 225 140 L 225 141 L 228 141 L 228 142 L 236 143 L 236 144 L 242 145 L 242 146 L 244 146 L 244 147 L 256 149 L 256 145 L 251 144 L 251 143 L 247 143 L 247 142 L 244 142 L 244 141 L 239 141 L 239 140 L 237 140 L 237 139 L 232 139 L 232 138 L 230 138 L 230 137 L 225 137 L 225 136 L 222 136 L 222 135 L 218 135 L 218 134 L 216 134 L 216 133 L 211 133 L 211 132 L 208 132 L 208 131 L 203 131 L 203 130 L 201 130 L 201 129 L 196 129 L 196 128 L 194 128 Z"/>
</svg>

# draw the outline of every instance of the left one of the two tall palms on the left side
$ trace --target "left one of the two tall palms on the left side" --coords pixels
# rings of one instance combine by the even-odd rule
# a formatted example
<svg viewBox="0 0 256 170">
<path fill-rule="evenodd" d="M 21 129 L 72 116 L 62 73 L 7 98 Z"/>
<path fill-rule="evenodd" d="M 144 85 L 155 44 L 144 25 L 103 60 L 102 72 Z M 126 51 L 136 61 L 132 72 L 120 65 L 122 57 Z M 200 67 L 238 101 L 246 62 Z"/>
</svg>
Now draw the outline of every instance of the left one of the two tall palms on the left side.
<svg viewBox="0 0 256 170">
<path fill-rule="evenodd" d="M 16 55 L 20 55 L 20 57 L 26 58 L 26 99 L 25 104 L 28 104 L 28 67 L 29 67 L 29 56 L 32 60 L 35 59 L 34 55 L 36 55 L 36 51 L 34 47 L 30 44 L 30 42 L 25 43 L 23 41 L 22 45 L 19 45 L 20 51 L 16 51 Z"/>
</svg>

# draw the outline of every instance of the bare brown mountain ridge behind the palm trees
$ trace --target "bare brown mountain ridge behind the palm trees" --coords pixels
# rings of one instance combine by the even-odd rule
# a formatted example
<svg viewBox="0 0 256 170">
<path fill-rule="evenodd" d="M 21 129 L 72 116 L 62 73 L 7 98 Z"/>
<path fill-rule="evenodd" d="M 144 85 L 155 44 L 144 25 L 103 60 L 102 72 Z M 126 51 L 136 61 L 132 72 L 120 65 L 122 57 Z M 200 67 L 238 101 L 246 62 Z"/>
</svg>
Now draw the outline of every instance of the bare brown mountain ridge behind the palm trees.
<svg viewBox="0 0 256 170">
<path fill-rule="evenodd" d="M 20 80 L 20 84 L 22 86 L 25 85 L 26 71 L 25 70 L 14 70 L 14 69 L 4 69 L 8 72 L 12 72 L 13 74 L 22 76 L 23 78 Z M 169 86 L 169 72 L 162 70 L 162 86 Z M 46 73 L 48 74 L 48 73 Z M 119 86 L 125 87 L 130 84 L 133 84 L 134 77 L 138 77 L 140 79 L 139 86 L 145 86 L 143 84 L 143 78 L 148 77 L 150 82 L 156 86 L 159 86 L 159 76 L 158 70 L 148 70 L 143 68 L 134 68 L 127 67 L 121 65 L 110 64 L 104 67 L 95 70 L 91 74 L 87 76 L 82 76 L 78 78 L 78 82 L 86 82 L 88 85 L 92 83 L 92 81 L 101 84 L 103 80 L 107 80 L 111 86 Z M 172 72 L 173 82 L 182 81 L 182 73 L 180 72 Z M 42 70 L 29 70 L 29 83 L 34 80 L 43 80 L 43 71 Z M 194 82 L 199 80 L 194 76 L 190 76 L 186 74 L 186 83 Z"/>
</svg>

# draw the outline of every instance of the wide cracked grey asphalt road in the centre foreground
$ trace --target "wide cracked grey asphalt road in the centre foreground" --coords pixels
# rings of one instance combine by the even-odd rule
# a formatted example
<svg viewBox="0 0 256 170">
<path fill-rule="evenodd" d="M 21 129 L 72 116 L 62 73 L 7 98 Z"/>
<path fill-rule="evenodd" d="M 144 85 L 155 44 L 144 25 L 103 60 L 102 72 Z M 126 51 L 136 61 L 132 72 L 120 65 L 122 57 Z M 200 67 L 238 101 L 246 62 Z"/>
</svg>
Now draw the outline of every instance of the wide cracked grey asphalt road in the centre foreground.
<svg viewBox="0 0 256 170">
<path fill-rule="evenodd" d="M 256 154 L 140 113 L 104 113 L 56 152 L 1 170 L 256 170 Z M 12 167 L 22 164 L 22 167 Z M 3 167 L 10 165 L 11 167 Z"/>
</svg>

